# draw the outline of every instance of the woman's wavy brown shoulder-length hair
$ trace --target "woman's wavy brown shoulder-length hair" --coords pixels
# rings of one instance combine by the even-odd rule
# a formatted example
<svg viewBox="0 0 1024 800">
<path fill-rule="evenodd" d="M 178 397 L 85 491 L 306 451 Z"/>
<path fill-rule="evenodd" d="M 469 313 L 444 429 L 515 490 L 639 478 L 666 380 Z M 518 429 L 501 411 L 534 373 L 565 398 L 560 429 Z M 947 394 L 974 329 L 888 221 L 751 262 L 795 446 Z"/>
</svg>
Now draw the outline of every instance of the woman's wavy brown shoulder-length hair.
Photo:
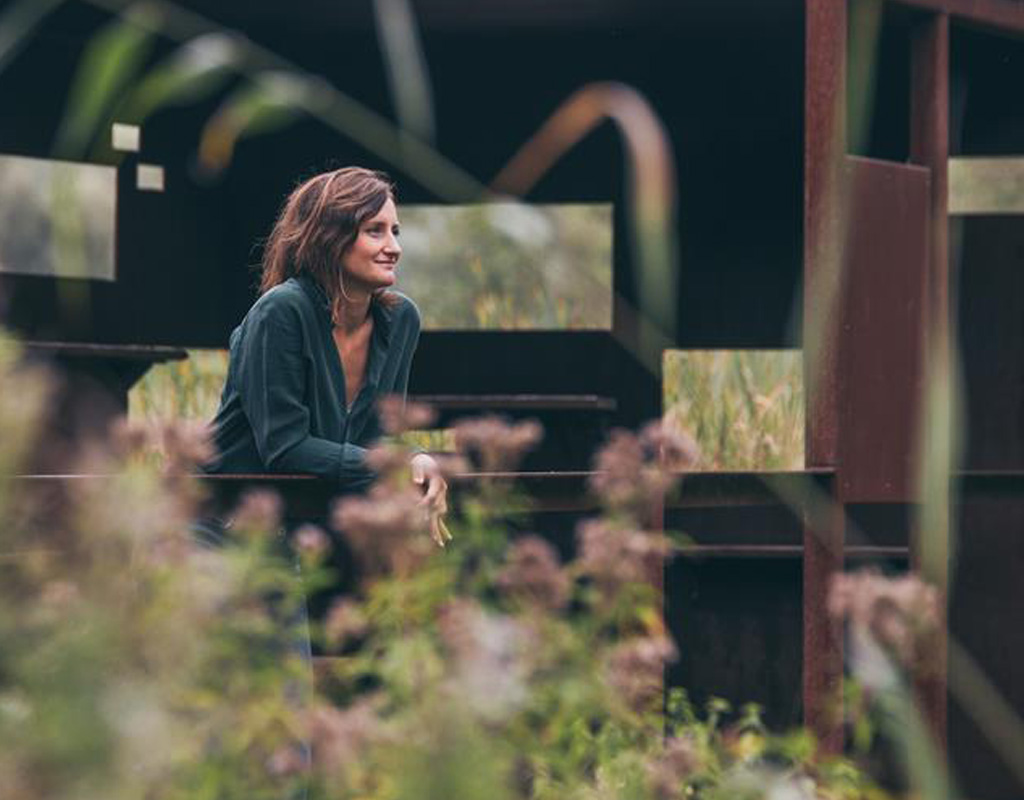
<svg viewBox="0 0 1024 800">
<path fill-rule="evenodd" d="M 359 226 L 394 201 L 394 184 L 383 172 L 343 167 L 301 183 L 285 202 L 263 247 L 260 294 L 289 278 L 311 276 L 331 302 L 335 320 L 345 303 L 341 262 Z M 374 300 L 393 305 L 398 296 L 381 289 Z"/>
</svg>

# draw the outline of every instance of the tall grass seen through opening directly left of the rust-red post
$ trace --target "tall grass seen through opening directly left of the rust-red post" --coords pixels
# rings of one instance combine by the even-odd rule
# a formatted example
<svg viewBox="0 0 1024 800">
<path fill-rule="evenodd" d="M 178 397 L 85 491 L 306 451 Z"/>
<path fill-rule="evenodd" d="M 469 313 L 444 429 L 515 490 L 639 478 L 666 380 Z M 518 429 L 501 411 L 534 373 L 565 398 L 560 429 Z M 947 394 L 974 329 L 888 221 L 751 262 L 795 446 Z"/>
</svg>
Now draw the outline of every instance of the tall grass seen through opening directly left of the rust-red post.
<svg viewBox="0 0 1024 800">
<path fill-rule="evenodd" d="M 705 471 L 804 467 L 800 350 L 666 350 L 663 408 Z"/>
</svg>

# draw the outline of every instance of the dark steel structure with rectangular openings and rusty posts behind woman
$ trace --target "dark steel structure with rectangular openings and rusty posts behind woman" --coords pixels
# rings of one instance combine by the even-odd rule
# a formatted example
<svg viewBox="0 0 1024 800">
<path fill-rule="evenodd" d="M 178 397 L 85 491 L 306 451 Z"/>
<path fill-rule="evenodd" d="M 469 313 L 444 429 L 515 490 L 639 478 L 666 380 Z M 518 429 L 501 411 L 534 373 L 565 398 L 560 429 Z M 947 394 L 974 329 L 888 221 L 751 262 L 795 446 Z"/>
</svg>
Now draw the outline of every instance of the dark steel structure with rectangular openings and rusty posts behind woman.
<svg viewBox="0 0 1024 800">
<path fill-rule="evenodd" d="M 182 4 L 392 115 L 369 2 Z M 1024 712 L 1024 628 L 1013 614 L 1024 566 L 1024 222 L 950 218 L 947 174 L 950 158 L 1024 154 L 1024 4 L 414 6 L 441 153 L 486 183 L 580 86 L 636 87 L 676 155 L 682 269 L 672 343 L 804 348 L 806 471 L 701 475 L 665 509 L 665 524 L 696 542 L 692 557 L 667 572 L 682 651 L 670 680 L 699 687 L 698 699 L 758 700 L 773 723 L 806 719 L 826 746 L 842 746 L 826 713 L 843 672 L 842 632 L 824 610 L 828 578 L 844 563 L 898 571 L 915 560 L 923 387 L 930 370 L 948 368 L 955 341 L 969 436 L 962 469 L 949 476 L 959 502 L 944 524 L 957 532 L 957 557 L 929 569 L 948 588 L 955 646 Z M 0 152 L 47 155 L 70 76 L 106 18 L 69 2 L 0 72 Z M 309 120 L 243 140 L 222 179 L 206 183 L 191 159 L 213 103 L 145 123 L 144 160 L 165 166 L 165 193 L 134 192 L 141 157 L 122 162 L 118 280 L 91 286 L 87 312 L 70 319 L 56 282 L 3 277 L 7 325 L 39 342 L 223 346 L 252 300 L 252 245 L 297 176 L 361 163 L 391 171 L 402 201 L 436 201 Z M 601 127 L 527 200 L 613 202 L 614 287 L 622 303 L 636 305 L 622 164 L 622 142 Z M 660 376 L 635 357 L 623 310 L 608 333 L 427 332 L 417 356 L 413 391 L 440 398 L 449 413 L 541 410 L 555 435 L 564 433 L 555 461 L 549 452 L 529 466 L 558 470 L 532 479 L 548 498 L 545 530 L 565 542 L 588 510 L 579 470 L 600 431 L 660 411 Z M 811 489 L 835 501 L 824 513 Z M 949 678 L 955 693 L 955 670 Z M 1024 787 L 987 744 L 991 731 L 958 701 L 947 707 L 944 681 L 921 689 L 968 794 L 1018 796 Z"/>
</svg>

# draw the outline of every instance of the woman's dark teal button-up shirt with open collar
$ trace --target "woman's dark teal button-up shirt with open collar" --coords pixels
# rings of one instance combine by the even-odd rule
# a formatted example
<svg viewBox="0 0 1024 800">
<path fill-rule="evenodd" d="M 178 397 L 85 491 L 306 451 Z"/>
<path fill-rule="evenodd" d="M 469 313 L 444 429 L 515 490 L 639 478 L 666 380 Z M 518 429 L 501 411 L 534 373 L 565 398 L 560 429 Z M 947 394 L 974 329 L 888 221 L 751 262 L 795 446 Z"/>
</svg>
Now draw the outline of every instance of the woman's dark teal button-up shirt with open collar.
<svg viewBox="0 0 1024 800">
<path fill-rule="evenodd" d="M 394 294 L 398 294 L 395 292 Z M 230 339 L 208 472 L 303 472 L 359 488 L 373 477 L 367 447 L 380 434 L 376 401 L 406 395 L 420 313 L 404 295 L 371 303 L 366 376 L 352 407 L 319 285 L 292 278 L 260 297 Z"/>
</svg>

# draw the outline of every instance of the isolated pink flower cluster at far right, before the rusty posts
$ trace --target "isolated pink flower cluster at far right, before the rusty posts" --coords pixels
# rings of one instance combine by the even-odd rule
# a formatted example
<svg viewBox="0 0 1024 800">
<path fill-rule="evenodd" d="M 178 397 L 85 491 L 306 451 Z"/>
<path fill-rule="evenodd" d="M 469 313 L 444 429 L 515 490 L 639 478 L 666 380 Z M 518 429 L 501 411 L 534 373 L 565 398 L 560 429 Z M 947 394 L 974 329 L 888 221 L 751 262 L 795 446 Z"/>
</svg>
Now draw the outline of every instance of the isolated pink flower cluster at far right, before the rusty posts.
<svg viewBox="0 0 1024 800">
<path fill-rule="evenodd" d="M 915 575 L 888 578 L 877 571 L 833 578 L 828 612 L 868 634 L 905 667 L 925 668 L 940 622 L 939 593 Z"/>
</svg>

